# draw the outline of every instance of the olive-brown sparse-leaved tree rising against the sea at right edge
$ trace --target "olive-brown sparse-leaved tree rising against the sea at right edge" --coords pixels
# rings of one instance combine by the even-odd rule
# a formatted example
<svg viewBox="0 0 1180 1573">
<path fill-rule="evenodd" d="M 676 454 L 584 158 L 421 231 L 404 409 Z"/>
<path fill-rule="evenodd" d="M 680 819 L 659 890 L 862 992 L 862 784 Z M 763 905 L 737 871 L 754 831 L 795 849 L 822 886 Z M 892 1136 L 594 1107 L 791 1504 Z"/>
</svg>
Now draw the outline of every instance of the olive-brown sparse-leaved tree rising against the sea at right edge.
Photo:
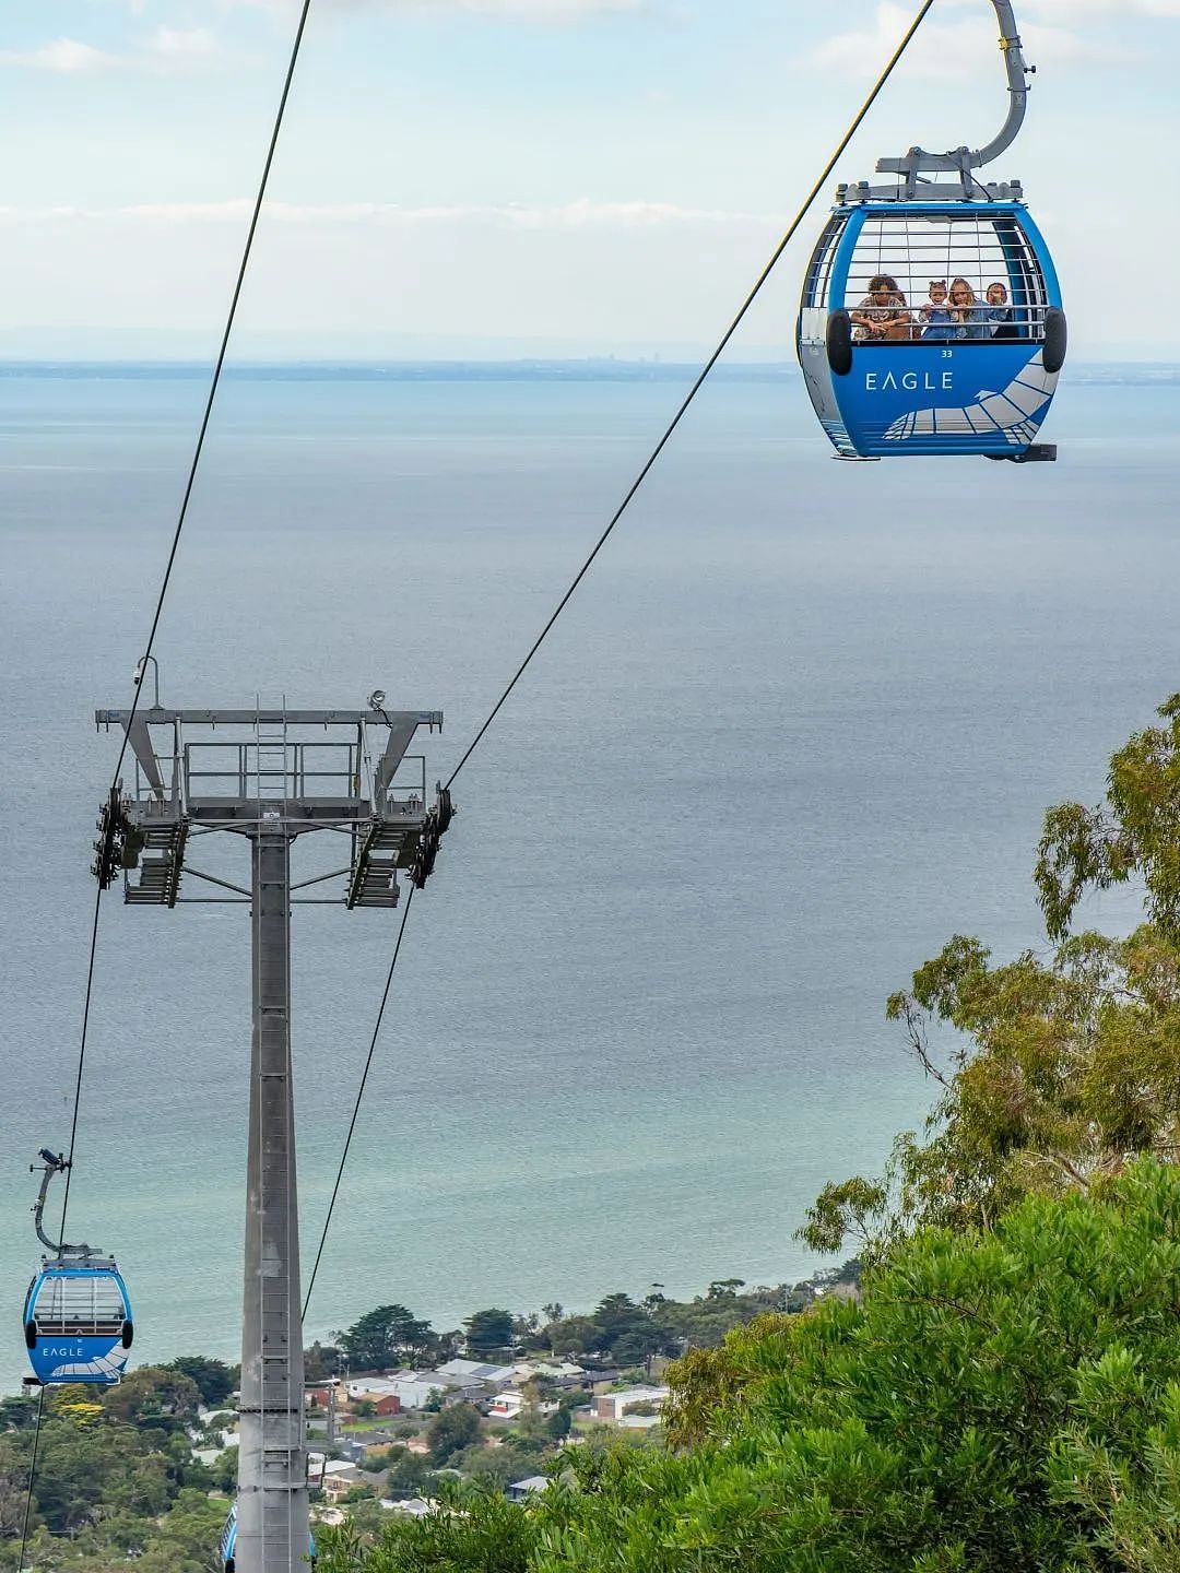
<svg viewBox="0 0 1180 1573">
<path fill-rule="evenodd" d="M 1114 755 L 1109 805 L 1046 815 L 1035 879 L 1051 953 L 996 964 L 955 936 L 889 1000 L 939 1096 L 883 1177 L 824 1189 L 802 1230 L 815 1249 L 879 1251 L 920 1222 L 986 1227 L 1029 1191 L 1086 1191 L 1138 1153 L 1180 1151 L 1180 695 L 1161 716 Z M 1131 878 L 1149 922 L 1127 939 L 1068 933 L 1087 890 Z"/>
</svg>

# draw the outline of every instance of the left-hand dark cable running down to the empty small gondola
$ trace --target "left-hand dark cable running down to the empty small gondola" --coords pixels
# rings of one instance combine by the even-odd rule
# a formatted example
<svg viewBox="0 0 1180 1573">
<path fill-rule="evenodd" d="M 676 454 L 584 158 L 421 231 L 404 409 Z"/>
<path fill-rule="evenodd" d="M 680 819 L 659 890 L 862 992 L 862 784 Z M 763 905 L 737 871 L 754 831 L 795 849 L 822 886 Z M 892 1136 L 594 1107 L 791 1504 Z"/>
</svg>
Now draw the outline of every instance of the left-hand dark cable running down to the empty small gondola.
<svg viewBox="0 0 1180 1573">
<path fill-rule="evenodd" d="M 261 173 L 261 179 L 258 182 L 258 193 L 255 197 L 253 211 L 250 214 L 250 225 L 249 225 L 247 233 L 245 233 L 245 244 L 242 247 L 242 260 L 241 260 L 239 267 L 238 267 L 238 277 L 234 280 L 233 296 L 230 297 L 230 310 L 228 310 L 227 318 L 225 318 L 225 330 L 222 333 L 222 341 L 220 341 L 220 346 L 217 349 L 217 360 L 214 362 L 212 378 L 211 378 L 211 382 L 209 382 L 209 395 L 208 395 L 208 398 L 205 401 L 205 412 L 201 415 L 201 423 L 200 423 L 200 428 L 198 428 L 198 433 L 197 433 L 197 444 L 194 447 L 192 464 L 189 466 L 189 477 L 187 477 L 187 481 L 184 484 L 184 494 L 181 497 L 181 508 L 179 508 L 179 513 L 178 513 L 178 518 L 176 518 L 176 529 L 173 530 L 173 535 L 171 535 L 171 546 L 168 549 L 168 557 L 167 557 L 167 562 L 165 562 L 165 566 L 164 566 L 164 577 L 160 580 L 159 596 L 156 598 L 156 610 L 153 613 L 151 628 L 148 631 L 148 643 L 146 643 L 146 647 L 143 650 L 143 658 L 142 658 L 142 664 L 140 664 L 142 678 L 135 684 L 135 694 L 132 697 L 131 709 L 127 713 L 126 725 L 123 728 L 123 746 L 120 747 L 118 761 L 115 764 L 115 772 L 113 772 L 112 783 L 110 783 L 112 791 L 118 788 L 120 771 L 123 769 L 123 760 L 126 758 L 127 742 L 129 742 L 129 738 L 131 738 L 131 722 L 135 719 L 135 713 L 138 711 L 140 694 L 143 691 L 143 678 L 146 676 L 148 656 L 151 654 L 153 647 L 156 643 L 156 634 L 159 631 L 160 615 L 164 612 L 164 599 L 165 599 L 165 596 L 168 593 L 168 585 L 171 582 L 171 571 L 173 571 L 173 568 L 176 565 L 176 552 L 178 552 L 179 544 L 181 544 L 181 533 L 184 530 L 184 521 L 186 521 L 186 518 L 189 514 L 189 502 L 192 500 L 194 486 L 197 483 L 197 470 L 198 470 L 200 462 L 201 462 L 201 453 L 205 451 L 205 437 L 206 437 L 206 434 L 209 431 L 209 420 L 212 417 L 212 406 L 214 406 L 214 400 L 217 398 L 217 389 L 219 389 L 220 381 L 222 381 L 222 370 L 225 368 L 225 355 L 227 355 L 227 351 L 230 348 L 230 337 L 233 333 L 233 324 L 234 324 L 234 319 L 238 316 L 238 302 L 241 300 L 242 285 L 245 283 L 245 272 L 247 272 L 247 267 L 250 266 L 250 253 L 253 250 L 253 241 L 255 241 L 255 234 L 258 231 L 258 219 L 260 219 L 261 211 L 263 211 L 263 201 L 266 198 L 266 187 L 267 187 L 269 179 L 271 179 L 271 167 L 274 165 L 274 156 L 275 156 L 275 149 L 278 146 L 278 134 L 282 131 L 283 116 L 286 113 L 286 101 L 291 96 L 291 82 L 294 80 L 296 63 L 299 61 L 299 50 L 301 50 L 301 46 L 304 42 L 304 31 L 307 28 L 307 17 L 308 17 L 310 9 L 312 9 L 312 0 L 302 0 L 302 6 L 301 6 L 301 11 L 299 11 L 299 22 L 296 25 L 296 33 L 294 33 L 294 42 L 291 44 L 291 55 L 289 55 L 288 63 L 286 63 L 286 76 L 283 77 L 283 91 L 278 96 L 278 109 L 275 110 L 274 124 L 271 127 L 271 140 L 267 143 L 266 160 L 263 164 L 263 173 Z M 72 1164 L 74 1164 L 74 1145 L 76 1145 L 76 1140 L 77 1140 L 77 1122 L 79 1122 L 79 1111 L 80 1111 L 80 1106 L 82 1106 L 82 1073 L 83 1073 L 85 1062 L 87 1062 L 87 1037 L 88 1037 L 88 1030 L 90 1030 L 90 1002 L 91 1002 L 91 996 L 93 996 L 93 991 L 94 991 L 94 960 L 96 960 L 96 955 L 98 955 L 98 931 L 99 931 L 101 898 L 102 898 L 102 887 L 99 886 L 98 895 L 94 898 L 94 922 L 93 922 L 91 934 L 90 934 L 90 960 L 87 963 L 87 991 L 85 991 L 85 1004 L 83 1004 L 83 1008 L 82 1008 L 82 1037 L 80 1037 L 80 1041 L 79 1041 L 77 1078 L 76 1078 L 76 1084 L 74 1084 L 74 1115 L 72 1115 L 71 1128 L 69 1128 L 69 1153 L 68 1153 L 68 1159 L 66 1159 L 66 1188 L 65 1188 L 65 1195 L 61 1199 L 61 1233 L 60 1233 L 61 1240 L 66 1238 L 66 1211 L 69 1208 L 69 1181 L 71 1181 L 71 1177 L 74 1173 L 74 1167 L 72 1167 Z M 17 1560 L 17 1570 L 16 1570 L 16 1573 L 24 1573 L 24 1567 L 25 1567 L 25 1549 L 28 1546 L 28 1516 L 30 1516 L 28 1510 L 30 1510 L 30 1504 L 31 1504 L 31 1497 L 33 1497 L 33 1480 L 35 1480 L 35 1472 L 36 1472 L 36 1453 L 38 1453 L 38 1442 L 41 1439 L 41 1420 L 42 1420 L 42 1416 L 44 1416 L 44 1405 L 46 1405 L 46 1391 L 42 1387 L 41 1389 L 41 1403 L 38 1405 L 38 1413 L 36 1413 L 36 1430 L 33 1433 L 33 1461 L 31 1461 L 30 1471 L 28 1471 L 28 1488 L 27 1488 L 27 1497 L 25 1497 L 24 1532 L 22 1532 L 22 1537 L 20 1537 L 20 1556 L 19 1556 L 19 1560 Z"/>
</svg>

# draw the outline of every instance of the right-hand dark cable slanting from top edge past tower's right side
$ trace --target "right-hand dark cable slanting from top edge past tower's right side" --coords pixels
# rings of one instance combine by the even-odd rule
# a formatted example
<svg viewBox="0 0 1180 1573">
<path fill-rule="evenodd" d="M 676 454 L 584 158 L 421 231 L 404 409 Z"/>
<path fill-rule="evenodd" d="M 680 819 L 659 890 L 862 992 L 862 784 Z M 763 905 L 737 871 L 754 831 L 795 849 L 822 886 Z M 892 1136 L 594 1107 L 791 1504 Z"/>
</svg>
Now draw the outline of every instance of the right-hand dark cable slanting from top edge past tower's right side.
<svg viewBox="0 0 1180 1573">
<path fill-rule="evenodd" d="M 463 769 L 463 766 L 467 763 L 467 760 L 472 757 L 472 753 L 475 752 L 475 749 L 480 746 L 480 742 L 483 741 L 485 733 L 488 731 L 488 728 L 491 727 L 491 724 L 499 716 L 499 713 L 500 713 L 505 700 L 513 692 L 513 689 L 516 687 L 516 684 L 521 681 L 521 678 L 524 676 L 525 669 L 529 667 L 530 661 L 533 659 L 533 656 L 537 654 L 537 651 L 544 643 L 544 640 L 549 635 L 554 623 L 557 621 L 557 618 L 562 615 L 562 612 L 566 609 L 566 606 L 573 599 L 574 590 L 577 590 L 577 587 L 582 582 L 582 579 L 585 579 L 587 573 L 590 571 L 592 563 L 595 562 L 595 558 L 598 557 L 598 554 L 601 552 L 601 549 L 606 546 L 606 543 L 610 538 L 615 525 L 618 524 L 618 521 L 623 518 L 623 514 L 629 508 L 629 505 L 634 500 L 639 488 L 643 484 L 643 481 L 647 480 L 648 473 L 655 467 L 656 459 L 659 459 L 661 453 L 669 445 L 669 442 L 672 439 L 672 434 L 675 433 L 677 426 L 681 423 L 681 420 L 684 418 L 689 406 L 692 404 L 692 401 L 695 400 L 695 396 L 702 390 L 702 387 L 705 385 L 705 379 L 713 371 L 713 368 L 716 367 L 716 363 L 721 360 L 722 354 L 728 348 L 730 340 L 738 332 L 738 329 L 741 327 L 743 321 L 746 319 L 746 315 L 749 313 L 750 307 L 754 305 L 754 302 L 761 294 L 761 289 L 766 285 L 766 282 L 771 277 L 771 274 L 774 272 L 776 266 L 779 264 L 779 261 L 782 258 L 782 253 L 787 250 L 787 247 L 790 245 L 790 242 L 795 239 L 795 236 L 799 231 L 804 219 L 810 212 L 810 209 L 812 209 L 812 206 L 815 203 L 815 198 L 820 195 L 820 192 L 823 190 L 823 187 L 828 184 L 828 179 L 829 179 L 832 170 L 835 168 L 835 165 L 843 157 L 843 154 L 845 154 L 845 151 L 848 148 L 848 143 L 853 140 L 853 137 L 856 135 L 856 132 L 861 129 L 861 126 L 862 126 L 865 116 L 868 115 L 868 112 L 872 110 L 873 104 L 876 104 L 878 98 L 881 96 L 881 93 L 883 93 L 883 90 L 886 87 L 886 83 L 892 77 L 892 74 L 897 69 L 897 66 L 902 63 L 902 57 L 909 49 L 911 42 L 914 41 L 914 36 L 916 36 L 917 30 L 922 27 L 922 24 L 925 22 L 925 19 L 930 14 L 930 11 L 933 9 L 933 6 L 935 6 L 935 0 L 924 0 L 924 5 L 919 8 L 917 16 L 914 17 L 914 20 L 906 28 L 905 36 L 902 38 L 900 44 L 897 46 L 897 49 L 891 55 L 891 58 L 889 58 L 886 68 L 883 69 L 881 76 L 876 79 L 876 83 L 873 85 L 872 93 L 868 94 L 868 98 L 864 101 L 864 104 L 857 110 L 856 116 L 853 118 L 853 123 L 850 124 L 848 131 L 843 134 L 843 137 L 840 138 L 840 142 L 835 146 L 835 151 L 832 153 L 832 156 L 829 157 L 828 164 L 824 165 L 823 173 L 820 175 L 820 178 L 817 179 L 815 186 L 812 186 L 810 192 L 807 193 L 807 198 L 804 201 L 802 208 L 799 208 L 798 214 L 790 222 L 790 225 L 787 228 L 787 233 L 779 241 L 779 244 L 774 247 L 774 252 L 771 253 L 769 261 L 766 263 L 766 266 L 763 267 L 763 271 L 758 274 L 758 278 L 757 278 L 754 288 L 750 289 L 750 293 L 743 300 L 741 308 L 738 310 L 738 315 L 733 318 L 733 321 L 730 322 L 730 326 L 725 329 L 725 333 L 722 335 L 717 348 L 713 351 L 713 354 L 710 355 L 710 359 L 705 362 L 705 367 L 699 373 L 695 382 L 692 384 L 692 387 L 689 389 L 688 395 L 681 401 L 680 407 L 677 409 L 675 415 L 672 417 L 669 426 L 664 431 L 664 436 L 659 439 L 659 442 L 656 444 L 656 447 L 651 450 L 647 462 L 643 464 L 643 467 L 640 469 L 639 475 L 636 477 L 636 480 L 632 481 L 631 488 L 628 489 L 626 495 L 623 497 L 621 503 L 615 510 L 615 513 L 614 513 L 610 522 L 607 524 L 606 530 L 603 530 L 603 533 L 599 535 L 598 541 L 595 543 L 593 551 L 590 552 L 590 555 L 587 557 L 587 560 L 582 563 L 582 566 L 577 569 L 577 574 L 574 576 L 573 582 L 570 584 L 570 588 L 565 591 L 565 595 L 562 596 L 562 599 L 557 602 L 557 607 L 554 609 L 552 617 L 549 618 L 549 621 L 544 624 L 544 628 L 541 629 L 541 632 L 533 640 L 533 643 L 532 643 L 532 647 L 529 650 L 529 654 L 519 664 L 519 667 L 513 673 L 511 681 L 505 687 L 503 694 L 500 694 L 500 697 L 496 700 L 496 703 L 492 705 L 491 711 L 488 713 L 486 720 L 483 722 L 483 725 L 480 727 L 480 730 L 475 733 L 475 736 L 472 738 L 472 741 L 467 744 L 467 749 L 463 753 L 463 758 L 459 760 L 459 763 L 455 766 L 455 769 L 447 777 L 447 786 L 452 786 L 452 783 L 455 782 L 455 777 L 459 774 L 459 771 Z M 412 895 L 412 890 L 411 890 L 411 895 Z M 368 1073 L 370 1073 L 370 1066 L 373 1063 L 373 1051 L 376 1048 L 378 1033 L 381 1032 L 381 1021 L 382 1021 L 382 1018 L 385 1015 L 385 1002 L 389 1000 L 389 991 L 390 991 L 390 986 L 393 983 L 393 969 L 398 964 L 398 952 L 401 950 L 401 936 L 406 931 L 406 919 L 407 917 L 409 917 L 409 898 L 406 900 L 406 911 L 404 911 L 403 919 L 401 919 L 401 928 L 398 930 L 396 944 L 393 945 L 393 956 L 392 956 L 392 960 L 389 963 L 389 972 L 385 974 L 385 986 L 384 986 L 384 991 L 381 994 L 381 1005 L 378 1008 L 378 1019 L 376 1019 L 376 1026 L 373 1029 L 373 1038 L 370 1041 L 368 1055 L 365 1059 L 365 1070 L 363 1070 L 363 1073 L 360 1076 L 360 1085 L 357 1089 L 356 1103 L 352 1106 L 352 1118 L 351 1118 L 349 1126 L 348 1126 L 348 1136 L 345 1137 L 345 1150 L 343 1150 L 343 1153 L 340 1156 L 340 1167 L 337 1170 L 335 1188 L 332 1189 L 332 1200 L 327 1205 L 327 1218 L 324 1219 L 324 1227 L 323 1227 L 323 1232 L 319 1235 L 319 1249 L 316 1251 L 315 1266 L 312 1269 L 312 1277 L 310 1277 L 310 1282 L 307 1285 L 307 1295 L 304 1296 L 304 1318 L 307 1318 L 307 1307 L 308 1307 L 308 1302 L 312 1299 L 312 1288 L 315 1287 L 316 1273 L 319 1271 L 319 1262 L 321 1262 L 321 1257 L 324 1254 L 324 1243 L 327 1240 L 327 1230 L 329 1230 L 329 1225 L 332 1224 L 332 1213 L 335 1211 L 337 1195 L 340 1192 L 340 1180 L 341 1180 L 343 1172 L 345 1172 L 345 1162 L 348 1161 L 348 1150 L 349 1150 L 349 1145 L 352 1142 L 352 1133 L 356 1131 L 357 1115 L 360 1114 L 360 1101 L 362 1101 L 362 1098 L 365 1095 L 365 1085 L 368 1082 Z"/>
</svg>

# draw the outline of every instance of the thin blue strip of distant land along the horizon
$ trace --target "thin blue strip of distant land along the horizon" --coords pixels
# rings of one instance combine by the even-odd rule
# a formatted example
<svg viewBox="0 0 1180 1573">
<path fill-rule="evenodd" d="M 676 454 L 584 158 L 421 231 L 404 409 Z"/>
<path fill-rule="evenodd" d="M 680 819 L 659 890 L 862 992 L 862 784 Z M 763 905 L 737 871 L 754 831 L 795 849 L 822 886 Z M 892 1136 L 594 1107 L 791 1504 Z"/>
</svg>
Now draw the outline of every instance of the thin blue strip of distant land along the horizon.
<svg viewBox="0 0 1180 1573">
<path fill-rule="evenodd" d="M 245 382 L 684 382 L 700 371 L 678 360 L 244 360 L 225 376 Z M 0 360 L 0 378 L 186 381 L 209 376 L 200 360 Z M 725 382 L 782 382 L 799 376 L 793 360 L 722 362 Z M 1175 362 L 1078 362 L 1076 382 L 1100 385 L 1180 385 Z"/>
</svg>

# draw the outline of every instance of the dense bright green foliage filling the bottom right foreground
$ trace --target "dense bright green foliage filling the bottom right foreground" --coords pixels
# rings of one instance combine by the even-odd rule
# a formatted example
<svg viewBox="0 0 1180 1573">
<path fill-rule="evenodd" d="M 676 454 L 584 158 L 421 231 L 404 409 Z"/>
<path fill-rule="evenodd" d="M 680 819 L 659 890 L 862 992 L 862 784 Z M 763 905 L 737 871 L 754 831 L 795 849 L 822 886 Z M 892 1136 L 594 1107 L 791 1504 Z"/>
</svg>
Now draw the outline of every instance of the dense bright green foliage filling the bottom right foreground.
<svg viewBox="0 0 1180 1573">
<path fill-rule="evenodd" d="M 672 1370 L 688 1450 L 573 1449 L 527 1507 L 392 1524 L 327 1573 L 1166 1573 L 1180 1567 L 1180 1173 L 924 1230 L 862 1304 Z"/>
</svg>

